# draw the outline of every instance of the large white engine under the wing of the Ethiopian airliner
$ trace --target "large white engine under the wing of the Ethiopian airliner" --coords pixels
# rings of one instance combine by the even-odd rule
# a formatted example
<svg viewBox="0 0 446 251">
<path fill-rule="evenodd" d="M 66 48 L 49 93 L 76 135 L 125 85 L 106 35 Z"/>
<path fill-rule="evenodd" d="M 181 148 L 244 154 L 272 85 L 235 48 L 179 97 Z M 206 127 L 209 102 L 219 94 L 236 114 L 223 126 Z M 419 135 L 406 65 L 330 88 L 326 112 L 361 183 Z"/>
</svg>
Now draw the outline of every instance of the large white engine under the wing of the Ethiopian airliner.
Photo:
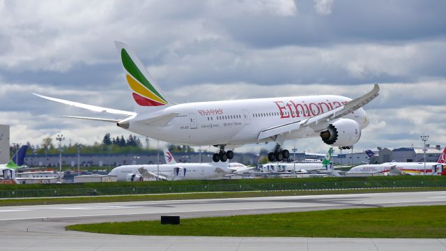
<svg viewBox="0 0 446 251">
<path fill-rule="evenodd" d="M 360 137 L 360 125 L 353 119 L 339 119 L 321 132 L 322 141 L 332 146 L 353 146 Z"/>
</svg>

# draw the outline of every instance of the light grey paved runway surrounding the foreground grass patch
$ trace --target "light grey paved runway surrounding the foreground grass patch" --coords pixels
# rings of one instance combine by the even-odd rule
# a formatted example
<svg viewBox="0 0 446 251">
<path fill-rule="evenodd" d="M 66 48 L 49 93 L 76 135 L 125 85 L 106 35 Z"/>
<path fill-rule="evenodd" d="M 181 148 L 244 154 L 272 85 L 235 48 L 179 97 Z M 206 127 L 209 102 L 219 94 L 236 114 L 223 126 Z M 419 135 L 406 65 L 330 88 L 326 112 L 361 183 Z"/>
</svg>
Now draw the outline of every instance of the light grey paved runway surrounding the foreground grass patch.
<svg viewBox="0 0 446 251">
<path fill-rule="evenodd" d="M 64 230 L 75 223 L 159 220 L 160 215 L 197 218 L 433 204 L 446 204 L 446 191 L 8 206 L 0 207 L 0 250 L 446 250 L 446 239 L 117 236 Z"/>
</svg>

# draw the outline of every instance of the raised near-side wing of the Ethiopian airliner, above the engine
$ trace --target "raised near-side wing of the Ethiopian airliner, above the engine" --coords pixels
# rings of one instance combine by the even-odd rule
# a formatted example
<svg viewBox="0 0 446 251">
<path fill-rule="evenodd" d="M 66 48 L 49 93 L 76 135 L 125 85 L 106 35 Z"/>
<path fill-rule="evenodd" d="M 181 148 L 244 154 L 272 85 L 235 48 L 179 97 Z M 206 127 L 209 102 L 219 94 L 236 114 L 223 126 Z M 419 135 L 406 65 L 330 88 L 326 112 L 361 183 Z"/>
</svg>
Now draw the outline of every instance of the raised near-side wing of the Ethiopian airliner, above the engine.
<svg viewBox="0 0 446 251">
<path fill-rule="evenodd" d="M 311 127 L 316 128 L 316 130 L 323 130 L 323 128 L 318 128 L 318 123 L 332 121 L 334 119 L 339 119 L 346 114 L 354 112 L 357 109 L 360 109 L 364 105 L 367 105 L 371 100 L 374 100 L 379 95 L 379 86 L 378 84 L 374 85 L 374 89 L 366 93 L 364 96 L 360 98 L 355 98 L 354 100 L 348 101 L 344 106 L 337 107 L 336 109 L 332 109 L 331 111 L 324 112 L 318 116 L 311 117 L 309 119 L 303 119 L 302 121 L 295 121 L 291 123 L 282 124 L 279 126 L 273 126 L 271 128 L 267 128 L 262 130 L 259 134 L 259 140 L 266 139 L 268 137 L 274 137 L 286 132 L 295 132 L 296 130 L 303 130 L 304 128 Z M 323 123 L 325 124 L 325 123 Z"/>
</svg>

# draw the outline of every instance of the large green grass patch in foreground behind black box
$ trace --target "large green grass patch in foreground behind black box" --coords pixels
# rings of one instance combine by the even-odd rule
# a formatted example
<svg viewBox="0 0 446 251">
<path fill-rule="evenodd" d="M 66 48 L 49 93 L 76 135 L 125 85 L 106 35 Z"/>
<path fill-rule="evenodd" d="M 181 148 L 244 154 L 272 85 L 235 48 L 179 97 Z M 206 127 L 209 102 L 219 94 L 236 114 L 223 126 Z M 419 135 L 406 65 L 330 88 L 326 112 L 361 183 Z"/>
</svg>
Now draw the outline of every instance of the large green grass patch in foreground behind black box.
<svg viewBox="0 0 446 251">
<path fill-rule="evenodd" d="M 71 225 L 68 230 L 156 236 L 445 238 L 446 206 L 403 206 Z"/>
</svg>

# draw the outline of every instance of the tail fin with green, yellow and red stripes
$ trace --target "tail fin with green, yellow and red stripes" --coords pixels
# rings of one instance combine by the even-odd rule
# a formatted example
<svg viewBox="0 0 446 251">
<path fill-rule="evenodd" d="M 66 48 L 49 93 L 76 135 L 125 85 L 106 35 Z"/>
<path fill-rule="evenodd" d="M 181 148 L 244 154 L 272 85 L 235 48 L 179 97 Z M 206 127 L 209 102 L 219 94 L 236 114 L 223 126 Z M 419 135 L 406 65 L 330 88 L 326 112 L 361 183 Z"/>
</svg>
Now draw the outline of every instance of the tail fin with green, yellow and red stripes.
<svg viewBox="0 0 446 251">
<path fill-rule="evenodd" d="M 164 95 L 160 86 L 148 74 L 148 71 L 130 50 L 130 47 L 123 42 L 116 41 L 115 44 L 121 56 L 125 79 L 130 86 L 130 91 L 132 91 L 132 98 L 137 103 L 137 109 L 174 104 Z"/>
</svg>

